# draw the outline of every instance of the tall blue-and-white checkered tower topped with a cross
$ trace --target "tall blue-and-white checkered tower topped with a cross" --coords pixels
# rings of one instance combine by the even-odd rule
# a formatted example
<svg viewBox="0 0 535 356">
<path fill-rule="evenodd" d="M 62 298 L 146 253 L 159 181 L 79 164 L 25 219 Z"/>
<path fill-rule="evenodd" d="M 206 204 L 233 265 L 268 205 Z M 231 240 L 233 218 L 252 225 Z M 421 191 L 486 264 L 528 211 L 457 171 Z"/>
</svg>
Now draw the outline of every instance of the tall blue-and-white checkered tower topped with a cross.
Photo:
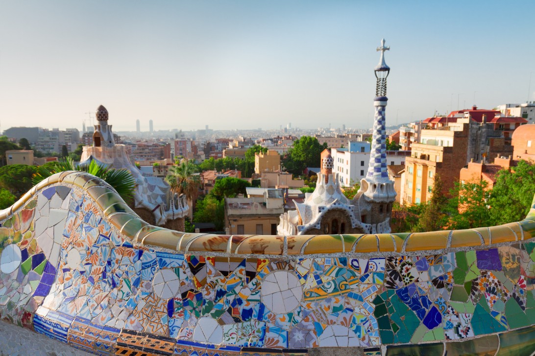
<svg viewBox="0 0 535 356">
<path fill-rule="evenodd" d="M 390 67 L 385 62 L 385 51 L 390 50 L 385 46 L 385 39 L 377 51 L 381 52 L 379 64 L 375 67 L 377 78 L 375 98 L 375 117 L 373 120 L 373 136 L 371 143 L 370 165 L 366 177 L 361 181 L 361 189 L 370 200 L 377 202 L 390 202 L 395 199 L 394 183 L 388 178 L 386 169 L 386 129 L 385 109 L 388 98 L 386 97 L 386 78 L 390 73 Z"/>
</svg>

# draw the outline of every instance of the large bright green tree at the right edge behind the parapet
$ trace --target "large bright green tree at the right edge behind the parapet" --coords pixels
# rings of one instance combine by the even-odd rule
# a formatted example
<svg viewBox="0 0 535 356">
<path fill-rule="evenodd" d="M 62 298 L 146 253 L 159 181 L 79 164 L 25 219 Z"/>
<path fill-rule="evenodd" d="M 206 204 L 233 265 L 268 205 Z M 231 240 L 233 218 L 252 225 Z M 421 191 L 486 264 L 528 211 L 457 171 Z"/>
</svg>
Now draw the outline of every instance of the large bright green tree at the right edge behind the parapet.
<svg viewBox="0 0 535 356">
<path fill-rule="evenodd" d="M 491 225 L 523 220 L 528 215 L 534 194 L 535 164 L 522 160 L 511 172 L 499 171 L 488 200 Z"/>
</svg>

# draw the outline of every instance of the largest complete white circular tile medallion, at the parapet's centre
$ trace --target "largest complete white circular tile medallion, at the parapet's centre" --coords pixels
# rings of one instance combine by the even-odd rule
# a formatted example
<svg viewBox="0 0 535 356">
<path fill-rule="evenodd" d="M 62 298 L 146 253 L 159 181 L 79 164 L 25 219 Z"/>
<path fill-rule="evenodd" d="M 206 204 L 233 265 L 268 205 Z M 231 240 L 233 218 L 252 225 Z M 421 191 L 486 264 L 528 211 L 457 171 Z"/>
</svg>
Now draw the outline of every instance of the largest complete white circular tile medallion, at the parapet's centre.
<svg viewBox="0 0 535 356">
<path fill-rule="evenodd" d="M 273 313 L 289 313 L 303 299 L 303 288 L 295 274 L 274 271 L 265 276 L 261 289 L 262 303 Z"/>
</svg>

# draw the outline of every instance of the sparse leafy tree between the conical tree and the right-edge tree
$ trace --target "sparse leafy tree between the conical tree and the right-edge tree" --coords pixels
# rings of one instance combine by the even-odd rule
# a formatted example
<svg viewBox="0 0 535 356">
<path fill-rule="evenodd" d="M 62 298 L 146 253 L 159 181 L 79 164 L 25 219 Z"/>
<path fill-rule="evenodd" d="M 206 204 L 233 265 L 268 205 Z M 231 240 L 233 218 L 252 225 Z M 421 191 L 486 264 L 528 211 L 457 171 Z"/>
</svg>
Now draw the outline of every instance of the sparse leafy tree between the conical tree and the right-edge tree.
<svg viewBox="0 0 535 356">
<path fill-rule="evenodd" d="M 448 200 L 445 211 L 448 213 L 449 228 L 461 230 L 488 226 L 490 210 L 488 183 L 481 180 L 477 183 L 458 183 L 450 189 L 452 198 Z"/>
</svg>

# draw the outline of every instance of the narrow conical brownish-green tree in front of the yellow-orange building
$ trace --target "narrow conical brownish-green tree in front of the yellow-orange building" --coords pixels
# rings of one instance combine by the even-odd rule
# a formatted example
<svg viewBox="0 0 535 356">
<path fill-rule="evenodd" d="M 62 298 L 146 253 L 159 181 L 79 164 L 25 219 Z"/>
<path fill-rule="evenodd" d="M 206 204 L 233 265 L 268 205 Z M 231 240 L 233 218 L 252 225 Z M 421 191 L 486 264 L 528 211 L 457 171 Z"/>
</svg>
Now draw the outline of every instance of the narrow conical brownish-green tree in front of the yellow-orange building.
<svg viewBox="0 0 535 356">
<path fill-rule="evenodd" d="M 440 175 L 435 175 L 431 194 L 431 199 L 422 204 L 418 223 L 412 228 L 414 232 L 442 230 L 444 226 L 446 217 L 444 209 L 447 199 L 442 194 L 442 179 L 440 179 Z"/>
</svg>

